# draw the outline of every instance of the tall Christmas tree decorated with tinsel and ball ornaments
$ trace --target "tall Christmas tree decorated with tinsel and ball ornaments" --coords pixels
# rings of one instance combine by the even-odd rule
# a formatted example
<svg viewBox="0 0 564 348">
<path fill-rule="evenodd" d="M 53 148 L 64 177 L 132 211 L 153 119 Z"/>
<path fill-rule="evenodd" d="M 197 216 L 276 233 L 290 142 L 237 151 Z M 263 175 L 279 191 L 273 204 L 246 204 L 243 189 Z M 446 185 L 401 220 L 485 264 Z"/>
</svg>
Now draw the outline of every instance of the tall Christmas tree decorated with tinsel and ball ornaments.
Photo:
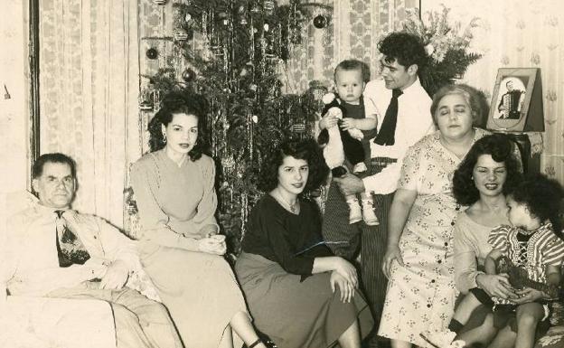
<svg viewBox="0 0 564 348">
<path fill-rule="evenodd" d="M 164 5 L 155 0 L 155 5 Z M 283 138 L 309 136 L 324 87 L 283 93 L 280 70 L 312 20 L 323 29 L 331 8 L 300 0 L 176 0 L 166 67 L 143 75 L 140 108 L 155 112 L 167 91 L 191 89 L 208 99 L 207 142 L 217 165 L 218 220 L 230 253 L 240 252 L 249 209 L 261 194 L 258 168 Z M 320 12 L 321 11 L 321 12 Z M 197 44 L 196 44 L 197 43 Z M 159 52 L 147 50 L 153 59 Z M 179 58 L 183 64 L 178 64 Z"/>
</svg>

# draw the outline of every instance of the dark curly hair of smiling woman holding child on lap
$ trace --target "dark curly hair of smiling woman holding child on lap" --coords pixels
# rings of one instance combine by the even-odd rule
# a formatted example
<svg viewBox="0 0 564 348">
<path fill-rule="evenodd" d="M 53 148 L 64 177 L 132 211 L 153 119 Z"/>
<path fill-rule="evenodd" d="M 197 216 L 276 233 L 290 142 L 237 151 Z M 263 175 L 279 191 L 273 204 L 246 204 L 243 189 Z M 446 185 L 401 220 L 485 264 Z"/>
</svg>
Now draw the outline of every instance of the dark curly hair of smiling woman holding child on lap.
<svg viewBox="0 0 564 348">
<path fill-rule="evenodd" d="M 491 155 L 495 162 L 505 164 L 507 176 L 505 183 L 503 183 L 504 194 L 509 193 L 517 183 L 520 183 L 522 166 L 515 155 L 515 146 L 515 143 L 503 134 L 494 134 L 478 139 L 456 168 L 453 177 L 453 193 L 456 202 L 462 205 L 472 205 L 480 199 L 480 193 L 475 187 L 472 175 L 478 157 L 481 155 Z"/>
</svg>

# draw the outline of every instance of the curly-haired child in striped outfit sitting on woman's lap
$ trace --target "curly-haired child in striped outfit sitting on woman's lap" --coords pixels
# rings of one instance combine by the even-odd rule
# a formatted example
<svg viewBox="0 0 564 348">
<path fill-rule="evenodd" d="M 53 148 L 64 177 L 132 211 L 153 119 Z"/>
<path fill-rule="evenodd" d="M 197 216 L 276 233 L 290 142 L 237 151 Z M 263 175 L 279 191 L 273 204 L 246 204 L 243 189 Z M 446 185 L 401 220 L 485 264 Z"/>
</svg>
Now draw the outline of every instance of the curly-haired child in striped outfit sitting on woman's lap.
<svg viewBox="0 0 564 348">
<path fill-rule="evenodd" d="M 539 330 L 548 324 L 550 303 L 558 296 L 564 260 L 559 216 L 563 198 L 564 190 L 555 180 L 542 174 L 531 177 L 507 197 L 512 226 L 490 233 L 488 241 L 494 249 L 485 259 L 486 273 L 496 274 L 497 261 L 505 257 L 527 274 L 521 282 L 510 278 L 519 298 L 493 297 L 494 326 L 509 324 L 517 333 L 516 348 L 532 348 L 535 334 L 541 334 Z M 548 330 L 548 325 L 544 329 Z"/>
</svg>

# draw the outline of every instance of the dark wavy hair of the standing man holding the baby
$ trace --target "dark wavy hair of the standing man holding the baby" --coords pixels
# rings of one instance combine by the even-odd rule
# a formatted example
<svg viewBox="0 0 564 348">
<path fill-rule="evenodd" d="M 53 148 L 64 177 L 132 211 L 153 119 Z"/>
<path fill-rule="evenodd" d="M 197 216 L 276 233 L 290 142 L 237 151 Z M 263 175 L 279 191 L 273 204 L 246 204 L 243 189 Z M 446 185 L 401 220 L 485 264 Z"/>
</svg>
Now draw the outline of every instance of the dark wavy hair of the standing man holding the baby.
<svg viewBox="0 0 564 348">
<path fill-rule="evenodd" d="M 387 63 L 398 61 L 406 69 L 415 64 L 421 71 L 428 63 L 423 42 L 411 33 L 390 33 L 378 42 L 378 50 L 385 56 Z"/>
</svg>

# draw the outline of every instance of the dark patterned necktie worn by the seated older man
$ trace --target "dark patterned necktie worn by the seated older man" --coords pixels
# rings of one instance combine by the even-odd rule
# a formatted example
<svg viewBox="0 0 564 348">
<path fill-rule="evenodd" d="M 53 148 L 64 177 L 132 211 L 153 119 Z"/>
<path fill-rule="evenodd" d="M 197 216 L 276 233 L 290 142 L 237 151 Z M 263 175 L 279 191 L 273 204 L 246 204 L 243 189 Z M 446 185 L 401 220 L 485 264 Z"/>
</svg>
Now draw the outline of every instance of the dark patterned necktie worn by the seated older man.
<svg viewBox="0 0 564 348">
<path fill-rule="evenodd" d="M 89 252 L 84 248 L 80 239 L 67 228 L 67 223 L 62 217 L 64 211 L 55 211 L 57 214 L 55 240 L 57 243 L 57 255 L 59 266 L 69 267 L 72 264 L 83 265 L 90 259 Z"/>
</svg>

